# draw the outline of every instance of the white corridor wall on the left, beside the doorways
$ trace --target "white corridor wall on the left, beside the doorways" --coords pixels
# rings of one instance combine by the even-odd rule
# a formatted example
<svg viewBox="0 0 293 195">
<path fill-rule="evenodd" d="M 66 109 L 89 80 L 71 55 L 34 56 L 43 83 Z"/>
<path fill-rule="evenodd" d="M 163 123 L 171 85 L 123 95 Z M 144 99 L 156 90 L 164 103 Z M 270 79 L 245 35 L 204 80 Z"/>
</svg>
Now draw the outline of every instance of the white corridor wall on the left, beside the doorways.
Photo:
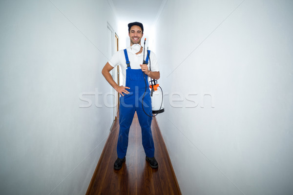
<svg viewBox="0 0 293 195">
<path fill-rule="evenodd" d="M 0 192 L 84 195 L 112 124 L 106 0 L 0 1 Z M 107 100 L 111 100 L 110 96 Z"/>
</svg>

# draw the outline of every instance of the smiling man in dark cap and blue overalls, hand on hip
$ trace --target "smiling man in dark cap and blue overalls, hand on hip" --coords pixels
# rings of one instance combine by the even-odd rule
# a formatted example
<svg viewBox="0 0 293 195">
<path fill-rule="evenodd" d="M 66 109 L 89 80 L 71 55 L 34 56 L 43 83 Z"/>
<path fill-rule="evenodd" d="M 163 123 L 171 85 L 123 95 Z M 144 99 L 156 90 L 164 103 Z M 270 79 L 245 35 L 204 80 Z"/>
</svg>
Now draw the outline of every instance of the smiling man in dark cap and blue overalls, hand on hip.
<svg viewBox="0 0 293 195">
<path fill-rule="evenodd" d="M 141 46 L 141 39 L 144 35 L 143 24 L 140 22 L 129 23 L 128 35 L 130 38 L 130 46 L 113 55 L 102 70 L 102 74 L 109 84 L 119 94 L 121 94 L 119 110 L 120 129 L 117 142 L 118 158 L 114 163 L 114 169 L 121 169 L 123 162 L 126 160 L 125 156 L 128 146 L 129 128 L 135 111 L 142 129 L 142 139 L 143 147 L 146 153 L 146 161 L 149 162 L 149 165 L 152 168 L 157 168 L 158 163 L 154 157 L 155 148 L 150 128 L 152 117 L 149 117 L 152 116 L 151 99 L 148 87 L 146 89 L 146 83 L 148 83 L 148 77 L 159 79 L 160 72 L 156 56 L 151 51 L 149 51 L 149 55 L 145 54 L 147 59 L 149 59 L 148 65 L 143 64 L 144 54 L 143 47 Z M 109 73 L 117 65 L 120 65 L 122 70 L 122 86 L 118 86 Z M 143 107 L 142 97 L 144 97 Z"/>
</svg>

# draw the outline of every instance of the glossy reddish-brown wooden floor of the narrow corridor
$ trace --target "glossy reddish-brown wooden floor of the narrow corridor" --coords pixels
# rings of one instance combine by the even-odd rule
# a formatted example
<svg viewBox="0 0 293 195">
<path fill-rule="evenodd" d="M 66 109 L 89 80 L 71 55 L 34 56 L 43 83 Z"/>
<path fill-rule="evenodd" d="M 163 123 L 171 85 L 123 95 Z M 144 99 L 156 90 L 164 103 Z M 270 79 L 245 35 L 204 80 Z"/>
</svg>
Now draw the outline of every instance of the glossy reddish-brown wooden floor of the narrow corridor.
<svg viewBox="0 0 293 195">
<path fill-rule="evenodd" d="M 86 195 L 181 195 L 155 118 L 152 120 L 151 129 L 158 169 L 152 169 L 146 162 L 141 128 L 135 115 L 129 131 L 126 162 L 120 170 L 114 170 L 119 133 L 119 119 L 117 119 L 106 141 Z"/>
</svg>

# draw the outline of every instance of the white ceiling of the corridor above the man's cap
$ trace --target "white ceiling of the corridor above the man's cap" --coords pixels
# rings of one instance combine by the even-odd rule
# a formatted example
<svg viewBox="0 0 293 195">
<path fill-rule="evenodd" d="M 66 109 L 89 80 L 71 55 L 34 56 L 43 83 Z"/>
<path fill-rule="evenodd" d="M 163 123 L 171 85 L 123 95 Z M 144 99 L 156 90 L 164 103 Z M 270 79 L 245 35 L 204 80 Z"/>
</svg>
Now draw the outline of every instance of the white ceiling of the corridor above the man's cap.
<svg viewBox="0 0 293 195">
<path fill-rule="evenodd" d="M 112 0 L 120 23 L 139 21 L 147 30 L 153 26 L 163 0 Z"/>
</svg>

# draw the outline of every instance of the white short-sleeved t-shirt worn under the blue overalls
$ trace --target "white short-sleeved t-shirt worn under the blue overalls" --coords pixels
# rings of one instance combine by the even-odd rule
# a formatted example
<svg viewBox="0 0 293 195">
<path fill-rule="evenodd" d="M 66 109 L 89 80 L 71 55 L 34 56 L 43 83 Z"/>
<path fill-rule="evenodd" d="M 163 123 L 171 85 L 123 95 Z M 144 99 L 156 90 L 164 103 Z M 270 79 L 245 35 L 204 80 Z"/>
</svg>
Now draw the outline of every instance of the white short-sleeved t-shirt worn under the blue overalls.
<svg viewBox="0 0 293 195">
<path fill-rule="evenodd" d="M 128 59 L 130 61 L 130 67 L 131 69 L 141 69 L 140 64 L 143 64 L 144 60 L 144 50 L 141 54 L 136 55 L 134 52 L 132 52 L 131 47 L 127 47 L 127 55 Z M 147 51 L 145 51 L 145 59 L 146 59 Z M 150 62 L 150 63 L 149 63 Z M 126 59 L 124 55 L 124 50 L 118 51 L 116 54 L 112 56 L 112 58 L 108 61 L 108 63 L 115 67 L 117 65 L 120 65 L 122 76 L 123 76 L 123 86 L 126 85 Z M 149 64 L 151 65 L 151 71 L 152 72 L 158 72 L 159 71 L 159 65 L 157 63 L 157 58 L 155 53 L 150 51 L 149 59 L 148 59 L 148 70 L 149 70 Z"/>
</svg>

